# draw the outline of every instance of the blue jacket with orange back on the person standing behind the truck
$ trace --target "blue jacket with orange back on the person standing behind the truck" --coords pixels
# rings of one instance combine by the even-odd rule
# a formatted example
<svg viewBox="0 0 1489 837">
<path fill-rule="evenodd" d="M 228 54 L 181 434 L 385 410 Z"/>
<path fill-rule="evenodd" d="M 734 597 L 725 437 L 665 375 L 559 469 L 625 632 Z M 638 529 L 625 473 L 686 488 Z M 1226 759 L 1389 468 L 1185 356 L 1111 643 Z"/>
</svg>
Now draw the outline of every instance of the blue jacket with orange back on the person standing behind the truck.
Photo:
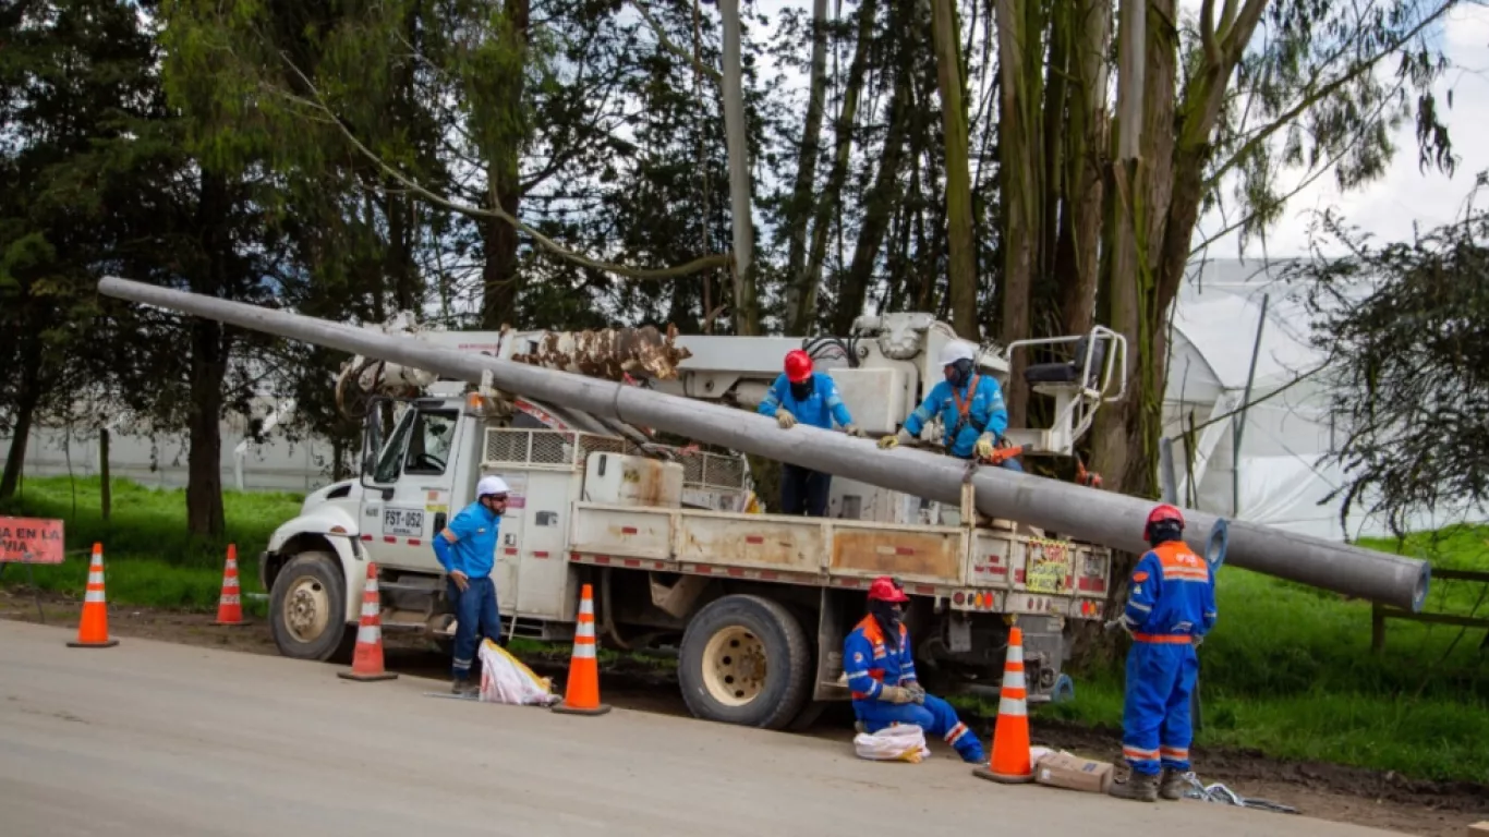
<svg viewBox="0 0 1489 837">
<path fill-rule="evenodd" d="M 1158 544 L 1132 570 L 1123 621 L 1138 642 L 1193 642 L 1215 627 L 1215 578 L 1182 541 Z"/>
</svg>

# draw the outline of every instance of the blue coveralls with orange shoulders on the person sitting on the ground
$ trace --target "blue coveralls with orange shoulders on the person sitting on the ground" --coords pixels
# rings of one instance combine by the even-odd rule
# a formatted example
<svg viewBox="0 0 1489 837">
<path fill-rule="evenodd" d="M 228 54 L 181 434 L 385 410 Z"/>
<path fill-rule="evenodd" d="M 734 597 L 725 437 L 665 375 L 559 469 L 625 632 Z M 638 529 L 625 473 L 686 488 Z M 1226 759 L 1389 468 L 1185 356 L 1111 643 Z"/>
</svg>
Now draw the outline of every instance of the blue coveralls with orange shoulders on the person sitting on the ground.
<svg viewBox="0 0 1489 837">
<path fill-rule="evenodd" d="M 983 745 L 966 724 L 957 721 L 950 703 L 932 694 L 926 696 L 925 704 L 879 698 L 884 684 L 904 687 L 916 679 L 905 626 L 899 626 L 899 648 L 890 652 L 879 623 L 873 615 L 864 617 L 843 640 L 843 669 L 847 687 L 853 690 L 853 713 L 870 734 L 892 724 L 916 724 L 929 736 L 941 736 L 965 761 L 983 761 Z"/>
</svg>

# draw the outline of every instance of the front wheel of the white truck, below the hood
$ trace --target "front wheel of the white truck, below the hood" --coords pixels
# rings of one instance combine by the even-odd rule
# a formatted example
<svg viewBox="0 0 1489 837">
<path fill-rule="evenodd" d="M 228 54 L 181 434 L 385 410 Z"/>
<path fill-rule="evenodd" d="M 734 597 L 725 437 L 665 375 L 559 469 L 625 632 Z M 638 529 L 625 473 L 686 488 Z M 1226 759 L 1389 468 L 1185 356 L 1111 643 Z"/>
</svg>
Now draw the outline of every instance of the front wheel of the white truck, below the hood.
<svg viewBox="0 0 1489 837">
<path fill-rule="evenodd" d="M 301 553 L 284 564 L 270 591 L 270 633 L 295 660 L 345 661 L 357 633 L 347 627 L 347 582 L 331 553 Z"/>
</svg>

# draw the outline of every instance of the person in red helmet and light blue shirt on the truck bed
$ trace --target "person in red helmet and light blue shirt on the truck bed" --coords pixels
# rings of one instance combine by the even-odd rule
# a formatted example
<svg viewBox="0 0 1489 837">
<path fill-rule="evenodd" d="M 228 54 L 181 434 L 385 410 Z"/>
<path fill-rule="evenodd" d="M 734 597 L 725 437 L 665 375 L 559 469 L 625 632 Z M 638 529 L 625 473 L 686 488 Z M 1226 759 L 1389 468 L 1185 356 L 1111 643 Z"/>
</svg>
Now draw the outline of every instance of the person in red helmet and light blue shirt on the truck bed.
<svg viewBox="0 0 1489 837">
<path fill-rule="evenodd" d="M 786 353 L 786 371 L 776 375 L 776 383 L 770 384 L 770 392 L 759 402 L 761 416 L 774 416 L 776 423 L 789 430 L 798 421 L 832 429 L 835 420 L 850 436 L 862 436 L 864 432 L 853 423 L 847 413 L 847 405 L 837 392 L 837 384 L 829 375 L 812 371 L 812 356 L 800 349 Z M 822 474 L 800 465 L 780 463 L 780 512 L 801 514 L 807 517 L 826 517 L 828 487 L 832 484 L 831 474 Z"/>
</svg>

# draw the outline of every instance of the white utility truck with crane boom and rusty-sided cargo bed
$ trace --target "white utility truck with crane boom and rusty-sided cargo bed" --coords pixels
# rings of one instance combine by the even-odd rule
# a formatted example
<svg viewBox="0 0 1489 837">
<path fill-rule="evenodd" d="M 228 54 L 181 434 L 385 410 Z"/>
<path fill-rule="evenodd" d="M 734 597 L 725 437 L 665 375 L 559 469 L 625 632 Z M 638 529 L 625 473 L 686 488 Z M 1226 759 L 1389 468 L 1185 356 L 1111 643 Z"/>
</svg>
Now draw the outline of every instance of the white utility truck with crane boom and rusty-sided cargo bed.
<svg viewBox="0 0 1489 837">
<path fill-rule="evenodd" d="M 954 340 L 929 314 L 861 317 L 849 337 L 807 340 L 386 331 L 742 410 L 759 404 L 786 351 L 806 349 L 873 436 L 893 432 L 941 380 L 937 357 Z M 1103 328 L 984 350 L 980 374 L 1007 387 L 1008 356 L 1035 344 L 1074 359 L 1026 369 L 1056 417 L 1047 429 L 1010 430 L 1026 466 L 1072 456 L 1126 386 L 1126 344 Z M 569 640 L 579 585 L 591 582 L 600 640 L 676 646 L 682 693 L 700 718 L 783 728 L 846 700 L 843 637 L 880 575 L 911 596 L 919 670 L 940 688 L 996 684 L 1017 615 L 1029 698 L 1048 700 L 1069 623 L 1103 618 L 1109 550 L 981 517 L 969 491 L 947 506 L 834 478 L 825 518 L 761 514 L 736 453 L 666 445 L 643 427 L 360 357 L 338 395 L 365 413 L 362 472 L 307 496 L 259 563 L 274 640 L 289 657 L 350 654 L 368 561 L 378 566 L 384 631 L 448 642 L 453 615 L 430 539 L 487 474 L 512 487 L 493 570 L 503 630 Z M 940 432 L 932 423 L 920 442 L 937 444 Z"/>
</svg>

